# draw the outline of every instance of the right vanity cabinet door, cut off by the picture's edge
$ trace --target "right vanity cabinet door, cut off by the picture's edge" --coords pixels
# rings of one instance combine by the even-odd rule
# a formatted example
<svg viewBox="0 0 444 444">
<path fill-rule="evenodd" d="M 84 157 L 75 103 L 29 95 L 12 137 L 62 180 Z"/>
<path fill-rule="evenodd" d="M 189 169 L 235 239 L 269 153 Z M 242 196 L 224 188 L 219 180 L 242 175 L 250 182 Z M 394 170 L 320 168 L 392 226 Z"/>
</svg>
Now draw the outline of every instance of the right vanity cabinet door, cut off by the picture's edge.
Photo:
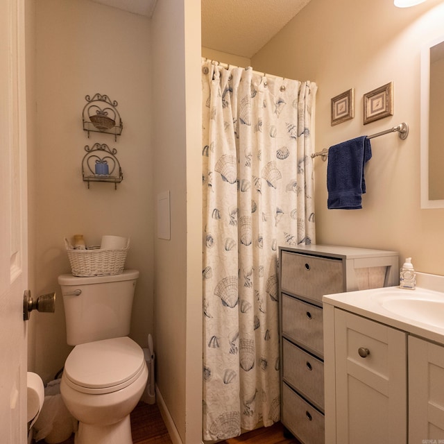
<svg viewBox="0 0 444 444">
<path fill-rule="evenodd" d="M 409 443 L 444 442 L 444 347 L 409 336 Z"/>
</svg>

